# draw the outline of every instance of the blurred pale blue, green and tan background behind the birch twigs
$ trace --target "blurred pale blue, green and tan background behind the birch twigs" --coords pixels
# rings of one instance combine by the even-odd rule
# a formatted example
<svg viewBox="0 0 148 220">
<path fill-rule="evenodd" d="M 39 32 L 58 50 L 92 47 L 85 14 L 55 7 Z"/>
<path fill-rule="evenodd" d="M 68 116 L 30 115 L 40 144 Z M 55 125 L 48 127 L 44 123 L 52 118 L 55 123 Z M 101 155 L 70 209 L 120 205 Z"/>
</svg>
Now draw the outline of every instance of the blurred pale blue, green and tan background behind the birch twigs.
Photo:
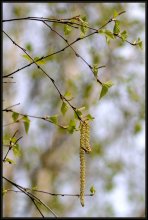
<svg viewBox="0 0 148 220">
<path fill-rule="evenodd" d="M 19 17 L 70 18 L 86 16 L 91 27 L 99 28 L 113 16 L 119 16 L 128 40 L 140 37 L 145 43 L 144 3 L 3 3 L 3 19 Z M 50 23 L 64 36 L 64 27 Z M 113 24 L 107 29 L 112 30 Z M 60 50 L 66 43 L 41 22 L 5 22 L 3 29 L 32 57 Z M 74 30 L 66 36 L 72 42 L 80 36 Z M 71 92 L 76 107 L 86 107 L 95 118 L 91 122 L 92 153 L 86 158 L 86 193 L 94 185 L 96 193 L 85 198 L 81 207 L 77 197 L 55 197 L 38 194 L 61 217 L 138 217 L 145 213 L 145 50 L 120 39 L 106 43 L 103 35 L 93 35 L 73 45 L 91 65 L 106 65 L 99 78 L 111 80 L 114 86 L 99 101 L 101 87 L 88 66 L 75 56 L 71 48 L 46 59 L 43 69 L 55 80 L 62 94 Z M 4 75 L 21 68 L 28 61 L 23 52 L 3 37 Z M 13 75 L 15 83 L 3 85 L 3 107 L 20 102 L 13 110 L 36 116 L 59 115 L 67 125 L 73 118 L 69 108 L 63 116 L 62 101 L 53 84 L 32 65 Z M 10 79 L 9 79 L 10 81 Z M 5 137 L 19 129 L 21 156 L 16 165 L 5 163 L 7 178 L 25 187 L 37 187 L 53 193 L 79 193 L 79 132 L 69 134 L 46 121 L 30 118 L 28 135 L 22 123 L 3 127 Z M 12 122 L 12 114 L 4 112 L 3 124 Z M 4 148 L 4 155 L 7 149 Z M 11 155 L 13 158 L 14 156 Z M 11 188 L 4 182 L 4 188 Z M 32 201 L 21 193 L 4 196 L 5 217 L 38 217 Z M 52 216 L 44 210 L 45 216 Z"/>
</svg>

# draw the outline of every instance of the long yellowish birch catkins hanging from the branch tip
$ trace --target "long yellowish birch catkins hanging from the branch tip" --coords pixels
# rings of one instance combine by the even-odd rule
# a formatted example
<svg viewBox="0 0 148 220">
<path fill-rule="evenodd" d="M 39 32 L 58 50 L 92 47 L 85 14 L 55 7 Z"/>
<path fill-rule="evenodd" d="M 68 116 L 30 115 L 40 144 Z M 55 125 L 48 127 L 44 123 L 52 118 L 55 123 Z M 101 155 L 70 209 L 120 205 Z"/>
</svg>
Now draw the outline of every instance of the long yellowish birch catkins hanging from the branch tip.
<svg viewBox="0 0 148 220">
<path fill-rule="evenodd" d="M 82 206 L 84 206 L 85 194 L 85 152 L 89 153 L 91 151 L 89 133 L 88 121 L 80 122 L 80 202 Z"/>
</svg>

